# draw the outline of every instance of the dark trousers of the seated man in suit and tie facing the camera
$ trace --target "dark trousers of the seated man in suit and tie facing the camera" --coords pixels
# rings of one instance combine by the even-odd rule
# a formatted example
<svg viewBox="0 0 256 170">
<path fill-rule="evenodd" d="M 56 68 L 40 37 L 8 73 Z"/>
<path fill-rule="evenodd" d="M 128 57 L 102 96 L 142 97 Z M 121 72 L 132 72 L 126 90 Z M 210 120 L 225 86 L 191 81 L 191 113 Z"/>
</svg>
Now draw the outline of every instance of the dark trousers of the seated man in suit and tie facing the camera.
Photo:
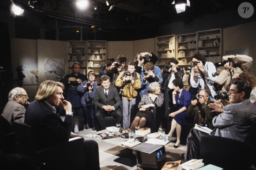
<svg viewBox="0 0 256 170">
<path fill-rule="evenodd" d="M 97 113 L 95 114 L 95 120 L 98 122 L 101 130 L 106 129 L 107 127 L 104 121 L 104 118 L 107 116 L 111 116 L 115 118 L 117 123 L 121 123 L 123 120 L 123 114 L 119 109 L 115 111 L 111 111 L 110 114 L 108 114 L 107 111 L 98 110 Z"/>
</svg>

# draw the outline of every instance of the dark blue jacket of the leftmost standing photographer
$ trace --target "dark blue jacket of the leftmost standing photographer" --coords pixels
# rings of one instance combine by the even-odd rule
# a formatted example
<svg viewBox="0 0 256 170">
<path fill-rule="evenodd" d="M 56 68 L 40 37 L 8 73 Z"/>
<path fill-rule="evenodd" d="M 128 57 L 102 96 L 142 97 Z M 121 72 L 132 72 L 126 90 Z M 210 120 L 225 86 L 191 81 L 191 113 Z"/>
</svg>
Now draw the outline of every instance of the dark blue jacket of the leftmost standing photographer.
<svg viewBox="0 0 256 170">
<path fill-rule="evenodd" d="M 81 107 L 82 106 L 81 98 L 83 94 L 77 91 L 77 87 L 79 84 L 77 83 L 74 84 L 75 90 L 71 90 L 70 85 L 72 84 L 72 82 L 68 83 L 68 78 L 80 78 L 83 82 L 88 80 L 87 76 L 81 73 L 77 74 L 77 76 L 74 73 L 70 73 L 60 80 L 60 82 L 63 83 L 66 88 L 66 92 L 67 92 L 66 100 L 68 100 L 72 104 L 72 107 Z"/>
</svg>

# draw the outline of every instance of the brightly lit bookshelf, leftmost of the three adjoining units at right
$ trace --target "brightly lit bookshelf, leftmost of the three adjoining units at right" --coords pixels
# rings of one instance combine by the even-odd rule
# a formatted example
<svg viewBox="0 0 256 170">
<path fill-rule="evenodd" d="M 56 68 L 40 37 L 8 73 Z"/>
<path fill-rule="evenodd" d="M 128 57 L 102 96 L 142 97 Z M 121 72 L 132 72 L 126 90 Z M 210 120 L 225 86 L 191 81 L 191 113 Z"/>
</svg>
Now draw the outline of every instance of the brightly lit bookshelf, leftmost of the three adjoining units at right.
<svg viewBox="0 0 256 170">
<path fill-rule="evenodd" d="M 160 68 L 168 65 L 169 59 L 175 58 L 175 35 L 167 35 L 162 37 L 156 37 L 156 55 L 158 56 L 158 62 L 156 65 Z"/>
</svg>

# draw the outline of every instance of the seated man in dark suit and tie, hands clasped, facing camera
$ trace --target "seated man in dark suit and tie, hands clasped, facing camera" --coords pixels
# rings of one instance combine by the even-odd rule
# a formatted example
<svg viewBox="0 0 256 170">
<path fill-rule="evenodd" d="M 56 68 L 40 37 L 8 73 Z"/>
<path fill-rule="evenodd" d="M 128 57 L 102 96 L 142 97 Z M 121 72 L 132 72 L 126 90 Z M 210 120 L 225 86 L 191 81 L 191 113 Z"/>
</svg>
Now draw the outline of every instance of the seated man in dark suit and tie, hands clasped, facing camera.
<svg viewBox="0 0 256 170">
<path fill-rule="evenodd" d="M 122 101 L 120 100 L 117 88 L 110 85 L 110 78 L 107 75 L 101 77 L 101 86 L 96 88 L 94 96 L 94 105 L 98 107 L 95 114 L 95 119 L 98 122 L 101 130 L 106 129 L 106 124 L 103 118 L 112 116 L 117 123 L 121 123 L 123 115 L 119 109 Z"/>
</svg>

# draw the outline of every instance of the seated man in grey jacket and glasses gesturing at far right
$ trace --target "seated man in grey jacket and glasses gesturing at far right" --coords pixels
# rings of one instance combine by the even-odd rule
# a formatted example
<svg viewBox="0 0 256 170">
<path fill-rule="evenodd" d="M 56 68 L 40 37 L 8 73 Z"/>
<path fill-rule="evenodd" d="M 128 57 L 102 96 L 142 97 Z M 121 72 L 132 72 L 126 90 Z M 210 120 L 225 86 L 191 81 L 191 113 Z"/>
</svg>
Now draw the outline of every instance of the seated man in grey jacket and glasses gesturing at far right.
<svg viewBox="0 0 256 170">
<path fill-rule="evenodd" d="M 222 112 L 212 120 L 215 129 L 210 135 L 226 137 L 233 140 L 245 142 L 252 122 L 256 118 L 256 106 L 249 99 L 252 86 L 248 81 L 237 80 L 231 82 L 228 92 L 232 104 L 225 107 L 221 103 L 211 103 L 210 108 Z M 191 129 L 187 139 L 187 151 L 184 162 L 190 159 L 199 159 L 200 143 L 203 133 L 196 129 Z"/>
</svg>

